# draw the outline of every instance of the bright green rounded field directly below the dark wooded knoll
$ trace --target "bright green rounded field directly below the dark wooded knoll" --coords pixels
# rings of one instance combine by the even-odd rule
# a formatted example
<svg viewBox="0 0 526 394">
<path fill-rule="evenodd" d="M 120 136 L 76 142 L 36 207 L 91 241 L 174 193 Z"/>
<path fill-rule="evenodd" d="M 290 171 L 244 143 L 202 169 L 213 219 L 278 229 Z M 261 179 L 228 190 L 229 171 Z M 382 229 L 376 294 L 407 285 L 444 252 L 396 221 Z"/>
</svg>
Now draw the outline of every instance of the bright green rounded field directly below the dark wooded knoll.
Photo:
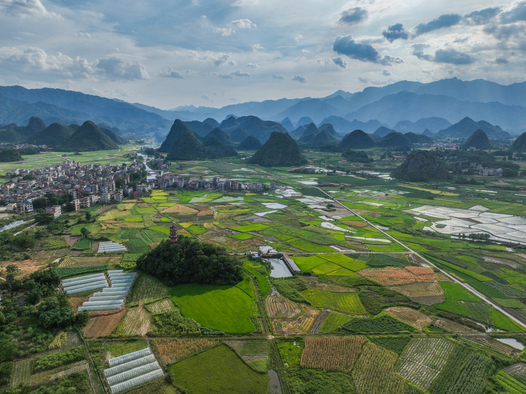
<svg viewBox="0 0 526 394">
<path fill-rule="evenodd" d="M 181 314 L 205 327 L 231 334 L 254 330 L 249 319 L 254 300 L 235 286 L 178 285 L 170 295 Z"/>
</svg>

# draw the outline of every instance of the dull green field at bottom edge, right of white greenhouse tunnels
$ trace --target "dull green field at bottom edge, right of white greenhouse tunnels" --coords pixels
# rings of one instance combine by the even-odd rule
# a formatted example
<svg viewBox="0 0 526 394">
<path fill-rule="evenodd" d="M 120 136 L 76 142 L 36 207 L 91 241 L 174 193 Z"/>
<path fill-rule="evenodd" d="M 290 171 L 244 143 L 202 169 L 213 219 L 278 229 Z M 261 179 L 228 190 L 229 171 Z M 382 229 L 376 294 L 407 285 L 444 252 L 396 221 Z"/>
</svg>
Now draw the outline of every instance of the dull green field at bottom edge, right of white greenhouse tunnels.
<svg viewBox="0 0 526 394">
<path fill-rule="evenodd" d="M 264 394 L 268 375 L 252 370 L 227 346 L 217 346 L 171 366 L 175 382 L 195 394 Z"/>
</svg>

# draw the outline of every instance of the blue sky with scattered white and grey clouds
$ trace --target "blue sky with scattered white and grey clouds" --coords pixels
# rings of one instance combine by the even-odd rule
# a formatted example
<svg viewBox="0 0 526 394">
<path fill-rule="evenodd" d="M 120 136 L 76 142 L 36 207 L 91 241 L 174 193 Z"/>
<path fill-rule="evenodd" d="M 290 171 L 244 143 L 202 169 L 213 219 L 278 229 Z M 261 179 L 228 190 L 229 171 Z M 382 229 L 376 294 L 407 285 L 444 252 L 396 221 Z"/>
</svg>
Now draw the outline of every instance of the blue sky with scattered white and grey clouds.
<svg viewBox="0 0 526 394">
<path fill-rule="evenodd" d="M 523 82 L 526 1 L 0 0 L 0 85 L 161 109 Z"/>
</svg>

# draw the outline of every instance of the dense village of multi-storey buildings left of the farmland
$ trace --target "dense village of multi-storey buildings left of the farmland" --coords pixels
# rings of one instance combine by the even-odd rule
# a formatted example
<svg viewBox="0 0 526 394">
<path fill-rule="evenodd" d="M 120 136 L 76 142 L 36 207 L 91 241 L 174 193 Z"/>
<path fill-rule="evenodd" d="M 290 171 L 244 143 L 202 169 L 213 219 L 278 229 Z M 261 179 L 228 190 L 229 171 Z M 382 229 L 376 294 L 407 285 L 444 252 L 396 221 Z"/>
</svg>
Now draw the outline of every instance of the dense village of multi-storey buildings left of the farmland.
<svg viewBox="0 0 526 394">
<path fill-rule="evenodd" d="M 166 164 L 161 164 L 164 169 Z M 120 203 L 125 196 L 141 197 L 153 189 L 189 188 L 216 190 L 264 190 L 260 182 L 241 183 L 234 180 L 220 178 L 184 179 L 175 174 L 149 176 L 147 183 L 130 186 L 130 174 L 144 169 L 143 164 L 118 165 L 80 165 L 73 160 L 63 161 L 58 166 L 37 169 L 16 169 L 9 171 L 6 176 L 11 180 L 0 185 L 0 199 L 5 200 L 7 210 L 25 213 L 34 210 L 33 200 L 43 198 L 47 193 L 57 197 L 69 194 L 70 203 L 75 210 L 88 208 L 97 203 Z M 27 175 L 32 175 L 27 177 Z M 26 178 L 26 179 L 24 179 Z M 32 178 L 32 179 L 31 179 Z M 115 181 L 122 178 L 122 188 L 117 188 Z M 120 185 L 119 185 L 120 186 Z M 272 183 L 271 189 L 276 185 Z M 46 213 L 58 217 L 62 214 L 60 206 L 46 208 Z"/>
</svg>

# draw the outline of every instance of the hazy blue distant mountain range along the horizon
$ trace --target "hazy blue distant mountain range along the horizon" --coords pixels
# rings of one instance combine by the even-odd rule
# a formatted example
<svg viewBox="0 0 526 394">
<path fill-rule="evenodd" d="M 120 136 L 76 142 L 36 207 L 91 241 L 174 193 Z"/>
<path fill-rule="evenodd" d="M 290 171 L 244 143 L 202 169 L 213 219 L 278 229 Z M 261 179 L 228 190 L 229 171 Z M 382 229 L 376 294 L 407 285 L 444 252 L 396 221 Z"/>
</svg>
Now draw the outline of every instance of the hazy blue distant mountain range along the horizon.
<svg viewBox="0 0 526 394">
<path fill-rule="evenodd" d="M 32 116 L 46 124 L 83 124 L 90 119 L 108 128 L 117 127 L 124 135 L 149 136 L 159 141 L 164 140 L 175 119 L 188 122 L 199 135 L 206 135 L 215 127 L 227 133 L 239 128 L 241 135 L 256 136 L 261 142 L 274 131 L 287 130 L 300 137 L 304 129 L 298 130 L 299 135 L 295 130 L 311 123 L 320 130 L 323 124 L 331 124 L 341 136 L 355 129 L 373 133 L 381 126 L 414 134 L 427 129 L 426 134 L 430 135 L 466 117 L 519 135 L 526 131 L 526 82 L 504 86 L 483 79 L 450 78 L 427 84 L 404 80 L 356 93 L 338 90 L 321 98 L 282 98 L 222 108 L 180 106 L 170 110 L 61 89 L 0 86 L 0 124 L 23 125 Z M 251 130 L 253 122 L 247 121 L 256 117 L 279 123 L 282 130 L 270 130 L 270 123 Z M 241 122 L 236 122 L 238 118 Z M 194 120 L 205 126 L 193 125 Z M 449 137 L 467 138 L 473 131 Z M 264 135 L 257 135 L 259 132 Z M 327 138 L 325 133 L 322 137 Z M 245 138 L 246 135 L 239 142 Z"/>
</svg>

